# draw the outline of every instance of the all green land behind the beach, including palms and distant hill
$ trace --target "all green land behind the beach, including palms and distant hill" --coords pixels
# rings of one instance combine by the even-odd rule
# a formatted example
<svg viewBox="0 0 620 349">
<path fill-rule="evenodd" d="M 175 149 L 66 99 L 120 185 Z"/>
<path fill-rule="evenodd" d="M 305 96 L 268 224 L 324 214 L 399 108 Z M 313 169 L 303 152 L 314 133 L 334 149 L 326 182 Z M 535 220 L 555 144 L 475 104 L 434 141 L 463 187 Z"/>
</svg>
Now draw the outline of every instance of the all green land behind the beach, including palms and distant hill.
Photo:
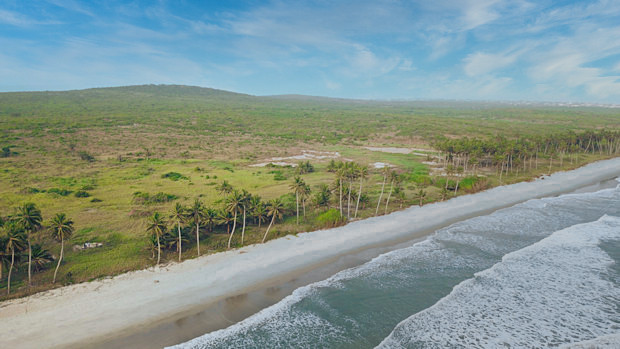
<svg viewBox="0 0 620 349">
<path fill-rule="evenodd" d="M 620 112 L 606 108 L 253 97 L 186 86 L 0 93 L 0 106 L 0 289 L 11 297 L 620 152 Z M 60 234 L 61 225 L 71 228 Z"/>
</svg>

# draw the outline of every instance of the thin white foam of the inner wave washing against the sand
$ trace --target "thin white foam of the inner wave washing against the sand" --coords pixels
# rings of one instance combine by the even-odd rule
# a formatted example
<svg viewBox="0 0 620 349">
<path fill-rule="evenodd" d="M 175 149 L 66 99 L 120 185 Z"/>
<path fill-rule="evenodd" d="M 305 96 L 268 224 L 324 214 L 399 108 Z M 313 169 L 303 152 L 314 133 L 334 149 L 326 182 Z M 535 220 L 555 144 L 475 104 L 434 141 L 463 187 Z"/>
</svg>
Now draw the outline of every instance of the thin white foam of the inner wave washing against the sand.
<svg viewBox="0 0 620 349">
<path fill-rule="evenodd" d="M 550 226 L 564 227 L 566 224 L 571 224 L 570 222 L 575 219 L 577 221 L 584 220 L 581 217 L 565 216 L 556 211 L 546 213 L 545 210 L 553 210 L 563 205 L 570 206 L 570 203 L 576 201 L 577 204 L 570 207 L 575 210 L 579 207 L 580 202 L 589 202 L 588 200 L 592 201 L 592 199 L 605 197 L 612 197 L 617 201 L 620 199 L 619 195 L 619 191 L 611 189 L 596 193 L 535 199 L 498 210 L 490 215 L 457 222 L 410 247 L 382 254 L 361 266 L 343 270 L 326 280 L 298 288 L 277 304 L 265 308 L 239 323 L 195 338 L 175 348 L 260 347 L 261 345 L 273 347 L 274 338 L 282 340 L 282 345 L 286 346 L 285 343 L 291 343 L 290 341 L 293 338 L 297 340 L 297 343 L 300 343 L 299 341 L 307 340 L 309 337 L 316 336 L 317 333 L 320 333 L 322 337 L 339 338 L 346 341 L 347 338 L 343 336 L 337 326 L 332 326 L 330 322 L 316 317 L 315 314 L 296 310 L 296 305 L 302 301 L 320 302 L 321 290 L 324 288 L 344 288 L 343 282 L 346 280 L 364 279 L 366 283 L 381 282 L 380 285 L 373 285 L 373 287 L 378 288 L 389 288 L 394 284 L 410 282 L 412 270 L 407 269 L 404 265 L 423 263 L 423 268 L 432 268 L 437 273 L 441 273 L 444 268 L 472 267 L 476 263 L 471 255 L 455 254 L 451 249 L 446 248 L 444 242 L 467 245 L 480 249 L 487 254 L 497 255 L 499 258 L 509 251 L 524 246 L 524 242 L 518 239 L 511 245 L 510 239 L 507 239 L 506 235 L 537 239 L 539 236 L 540 238 L 548 236 L 551 233 L 549 231 Z M 580 198 L 587 198 L 588 200 L 580 200 Z M 592 204 L 589 203 L 589 206 Z M 487 266 L 490 265 L 488 262 L 485 263 Z M 321 306 L 321 309 L 329 309 L 329 306 Z M 350 319 L 350 322 L 355 323 L 355 319 Z M 261 334 L 256 335 L 257 332 Z M 318 341 L 318 339 L 316 340 Z"/>
</svg>

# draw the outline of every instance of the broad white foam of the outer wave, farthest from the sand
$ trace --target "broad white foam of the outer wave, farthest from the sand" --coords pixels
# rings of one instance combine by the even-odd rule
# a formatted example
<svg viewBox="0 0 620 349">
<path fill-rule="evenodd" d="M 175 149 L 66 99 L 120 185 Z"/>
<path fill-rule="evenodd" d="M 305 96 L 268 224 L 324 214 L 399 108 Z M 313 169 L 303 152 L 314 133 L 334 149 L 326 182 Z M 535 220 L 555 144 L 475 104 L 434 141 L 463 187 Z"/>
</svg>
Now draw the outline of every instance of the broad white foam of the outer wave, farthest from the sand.
<svg viewBox="0 0 620 349">
<path fill-rule="evenodd" d="M 557 231 L 462 282 L 378 347 L 557 347 L 617 333 L 618 275 L 600 246 L 610 241 L 620 242 L 619 217 Z"/>
</svg>

